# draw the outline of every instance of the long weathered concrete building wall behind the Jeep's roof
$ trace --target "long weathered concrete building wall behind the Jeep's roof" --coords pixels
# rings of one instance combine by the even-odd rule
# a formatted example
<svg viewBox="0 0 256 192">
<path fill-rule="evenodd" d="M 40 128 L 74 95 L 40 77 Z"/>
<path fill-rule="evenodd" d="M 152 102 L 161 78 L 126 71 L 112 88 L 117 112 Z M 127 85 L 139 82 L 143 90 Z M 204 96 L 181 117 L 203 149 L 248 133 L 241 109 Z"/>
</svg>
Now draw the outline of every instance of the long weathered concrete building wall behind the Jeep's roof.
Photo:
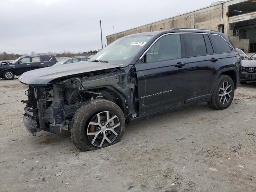
<svg viewBox="0 0 256 192">
<path fill-rule="evenodd" d="M 137 28 L 126 30 L 120 33 L 112 34 L 107 36 L 107 44 L 110 44 L 123 36 L 141 32 L 169 30 L 171 28 L 198 28 L 220 31 L 219 26 L 223 25 L 224 33 L 232 39 L 234 45 L 238 48 L 244 49 L 245 52 L 248 52 L 249 40 L 239 40 L 238 37 L 232 36 L 230 24 L 243 20 L 252 20 L 256 18 L 256 12 L 240 16 L 228 17 L 228 6 L 246 1 L 248 2 L 249 0 L 228 0 L 221 3 L 217 2 L 217 4 L 215 5 L 195 10 L 193 12 L 188 12 L 182 15 L 139 26 Z"/>
</svg>

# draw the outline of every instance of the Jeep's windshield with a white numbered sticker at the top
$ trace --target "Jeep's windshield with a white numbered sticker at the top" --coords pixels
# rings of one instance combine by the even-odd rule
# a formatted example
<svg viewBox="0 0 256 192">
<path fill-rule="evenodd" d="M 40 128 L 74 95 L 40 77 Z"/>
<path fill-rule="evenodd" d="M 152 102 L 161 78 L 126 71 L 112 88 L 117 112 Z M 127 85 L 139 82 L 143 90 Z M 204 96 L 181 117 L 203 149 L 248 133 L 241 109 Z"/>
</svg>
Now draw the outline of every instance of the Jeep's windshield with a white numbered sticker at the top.
<svg viewBox="0 0 256 192">
<path fill-rule="evenodd" d="M 107 61 L 128 65 L 153 36 L 132 36 L 120 38 L 98 52 L 88 61 Z"/>
</svg>

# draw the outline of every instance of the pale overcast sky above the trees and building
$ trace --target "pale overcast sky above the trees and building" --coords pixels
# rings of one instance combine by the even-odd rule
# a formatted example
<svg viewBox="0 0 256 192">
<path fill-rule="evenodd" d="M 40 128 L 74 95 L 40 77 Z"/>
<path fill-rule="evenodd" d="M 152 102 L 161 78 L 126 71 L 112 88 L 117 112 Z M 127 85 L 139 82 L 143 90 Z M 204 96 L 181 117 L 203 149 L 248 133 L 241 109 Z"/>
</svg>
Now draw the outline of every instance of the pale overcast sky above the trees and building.
<svg viewBox="0 0 256 192">
<path fill-rule="evenodd" d="M 213 0 L 0 0 L 0 52 L 87 52 L 106 36 L 209 6 Z"/>
</svg>

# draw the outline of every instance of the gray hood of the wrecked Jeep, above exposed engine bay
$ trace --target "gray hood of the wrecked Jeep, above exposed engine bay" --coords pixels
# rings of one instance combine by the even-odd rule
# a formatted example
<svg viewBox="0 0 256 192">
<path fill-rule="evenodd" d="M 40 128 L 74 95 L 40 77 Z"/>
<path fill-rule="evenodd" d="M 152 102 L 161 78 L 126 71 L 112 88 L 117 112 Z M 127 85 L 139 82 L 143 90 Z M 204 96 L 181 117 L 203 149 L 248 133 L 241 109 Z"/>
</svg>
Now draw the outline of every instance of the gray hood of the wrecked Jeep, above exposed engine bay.
<svg viewBox="0 0 256 192">
<path fill-rule="evenodd" d="M 49 82 L 57 78 L 63 78 L 66 76 L 80 75 L 87 72 L 93 72 L 97 70 L 105 70 L 111 68 L 118 68 L 122 65 L 109 64 L 104 62 L 88 62 L 82 61 L 72 64 L 63 64 L 58 66 L 51 66 L 36 70 L 31 70 L 23 73 L 19 80 L 26 85 L 45 86 Z"/>
</svg>

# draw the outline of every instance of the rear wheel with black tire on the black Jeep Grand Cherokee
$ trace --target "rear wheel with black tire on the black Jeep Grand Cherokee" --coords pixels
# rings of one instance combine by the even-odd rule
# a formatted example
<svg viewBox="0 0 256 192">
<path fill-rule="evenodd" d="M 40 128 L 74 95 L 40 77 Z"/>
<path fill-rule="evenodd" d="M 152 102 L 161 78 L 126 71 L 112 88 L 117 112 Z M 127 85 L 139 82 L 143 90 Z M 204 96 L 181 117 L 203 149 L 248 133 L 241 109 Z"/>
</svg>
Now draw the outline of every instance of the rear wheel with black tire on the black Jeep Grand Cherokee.
<svg viewBox="0 0 256 192">
<path fill-rule="evenodd" d="M 225 89 L 225 87 L 223 87 L 223 83 L 226 84 L 226 82 L 228 82 L 227 87 L 229 85 L 231 86 L 232 92 L 230 92 L 230 87 L 226 89 L 226 92 L 230 92 L 230 94 L 226 94 L 224 90 L 221 90 L 221 89 Z M 234 82 L 232 78 L 230 78 L 230 76 L 227 76 L 227 75 L 221 75 L 216 82 L 216 85 L 212 94 L 212 98 L 208 102 L 208 104 L 214 109 L 218 109 L 218 110 L 226 109 L 232 103 L 232 100 L 234 98 L 234 91 L 235 91 L 235 87 L 234 87 Z M 225 96 L 224 97 L 219 96 L 219 94 L 224 94 Z M 230 95 L 230 97 L 228 95 Z"/>
</svg>

